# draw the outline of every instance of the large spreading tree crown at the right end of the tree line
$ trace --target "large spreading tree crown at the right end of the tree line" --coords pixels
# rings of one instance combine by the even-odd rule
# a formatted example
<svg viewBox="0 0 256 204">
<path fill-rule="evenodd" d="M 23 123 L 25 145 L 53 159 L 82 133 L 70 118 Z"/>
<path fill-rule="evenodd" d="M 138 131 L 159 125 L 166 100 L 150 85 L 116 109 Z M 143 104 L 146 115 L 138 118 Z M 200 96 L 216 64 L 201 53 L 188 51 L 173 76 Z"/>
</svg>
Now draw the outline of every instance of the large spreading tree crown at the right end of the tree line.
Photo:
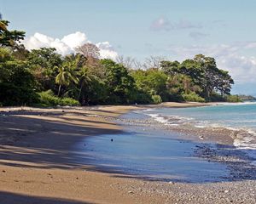
<svg viewBox="0 0 256 204">
<path fill-rule="evenodd" d="M 186 59 L 180 64 L 177 61 L 163 61 L 161 68 L 169 77 L 175 77 L 178 74 L 187 76 L 184 78 L 189 82 L 187 88 L 183 81 L 185 93 L 195 92 L 207 101 L 210 101 L 212 96 L 214 98 L 215 93 L 220 94 L 222 98 L 229 95 L 231 85 L 234 84 L 228 71 L 218 69 L 215 59 L 202 54 L 197 54 L 194 59 Z"/>
</svg>

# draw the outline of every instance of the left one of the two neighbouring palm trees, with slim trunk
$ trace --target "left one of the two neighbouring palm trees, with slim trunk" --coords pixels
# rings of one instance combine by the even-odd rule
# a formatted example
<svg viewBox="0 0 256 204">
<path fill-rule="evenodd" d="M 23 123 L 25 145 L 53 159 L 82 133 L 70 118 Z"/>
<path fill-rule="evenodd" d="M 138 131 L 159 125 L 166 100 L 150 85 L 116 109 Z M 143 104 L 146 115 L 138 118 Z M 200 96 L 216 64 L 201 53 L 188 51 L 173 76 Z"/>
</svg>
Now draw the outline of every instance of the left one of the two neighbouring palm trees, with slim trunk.
<svg viewBox="0 0 256 204">
<path fill-rule="evenodd" d="M 55 77 L 55 82 L 59 84 L 58 96 L 61 93 L 61 86 L 68 86 L 71 82 L 78 83 L 76 65 L 71 61 L 64 62 L 58 69 L 58 75 Z"/>
</svg>

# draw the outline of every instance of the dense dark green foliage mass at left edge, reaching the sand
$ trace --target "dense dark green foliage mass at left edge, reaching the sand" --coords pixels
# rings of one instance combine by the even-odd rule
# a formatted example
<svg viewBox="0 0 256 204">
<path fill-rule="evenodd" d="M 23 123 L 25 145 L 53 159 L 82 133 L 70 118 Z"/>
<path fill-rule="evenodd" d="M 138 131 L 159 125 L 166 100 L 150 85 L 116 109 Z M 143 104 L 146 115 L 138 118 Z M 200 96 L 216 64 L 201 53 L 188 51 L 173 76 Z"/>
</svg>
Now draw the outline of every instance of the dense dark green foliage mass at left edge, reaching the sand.
<svg viewBox="0 0 256 204">
<path fill-rule="evenodd" d="M 0 103 L 30 105 L 37 101 L 35 81 L 26 63 L 13 59 L 9 49 L 0 48 Z"/>
</svg>

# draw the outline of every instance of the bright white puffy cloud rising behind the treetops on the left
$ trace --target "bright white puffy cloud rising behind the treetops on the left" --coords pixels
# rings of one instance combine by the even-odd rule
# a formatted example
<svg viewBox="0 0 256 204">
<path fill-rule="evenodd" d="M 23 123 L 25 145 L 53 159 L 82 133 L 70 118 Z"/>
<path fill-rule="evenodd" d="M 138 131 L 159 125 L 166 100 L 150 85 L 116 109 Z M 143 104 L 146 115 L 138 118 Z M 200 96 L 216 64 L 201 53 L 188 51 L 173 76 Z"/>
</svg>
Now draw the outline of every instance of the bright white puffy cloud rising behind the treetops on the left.
<svg viewBox="0 0 256 204">
<path fill-rule="evenodd" d="M 28 37 L 24 40 L 24 45 L 27 49 L 38 48 L 56 48 L 56 52 L 61 55 L 71 54 L 75 52 L 75 48 L 83 45 L 86 42 L 90 42 L 83 32 L 74 32 L 67 36 L 59 38 L 48 37 L 44 34 L 36 32 L 32 37 Z M 98 42 L 96 46 L 100 48 L 101 58 L 116 59 L 117 52 L 113 50 L 113 47 L 109 42 Z"/>
</svg>

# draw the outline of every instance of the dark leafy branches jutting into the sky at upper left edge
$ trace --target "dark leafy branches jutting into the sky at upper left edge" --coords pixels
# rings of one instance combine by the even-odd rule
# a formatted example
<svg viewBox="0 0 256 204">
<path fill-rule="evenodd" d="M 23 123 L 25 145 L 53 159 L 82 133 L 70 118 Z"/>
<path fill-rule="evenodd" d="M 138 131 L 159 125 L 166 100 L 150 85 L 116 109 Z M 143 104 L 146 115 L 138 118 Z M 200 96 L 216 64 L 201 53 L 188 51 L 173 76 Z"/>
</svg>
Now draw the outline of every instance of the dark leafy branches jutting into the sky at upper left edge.
<svg viewBox="0 0 256 204">
<path fill-rule="evenodd" d="M 15 42 L 20 42 L 24 40 L 25 31 L 9 31 L 7 27 L 9 26 L 8 20 L 0 20 L 0 46 L 14 46 Z"/>
</svg>

